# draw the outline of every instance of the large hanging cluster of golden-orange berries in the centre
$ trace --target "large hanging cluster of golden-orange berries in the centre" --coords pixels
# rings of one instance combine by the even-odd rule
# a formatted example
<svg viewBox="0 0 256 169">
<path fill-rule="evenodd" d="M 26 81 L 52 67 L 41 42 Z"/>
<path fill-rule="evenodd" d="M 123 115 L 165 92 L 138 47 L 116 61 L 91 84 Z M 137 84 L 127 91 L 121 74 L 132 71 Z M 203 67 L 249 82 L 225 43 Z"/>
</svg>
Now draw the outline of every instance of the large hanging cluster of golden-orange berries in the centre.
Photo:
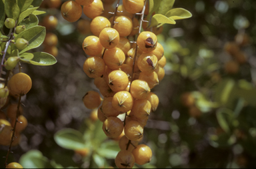
<svg viewBox="0 0 256 169">
<path fill-rule="evenodd" d="M 135 162 L 141 165 L 150 162 L 151 149 L 139 144 L 139 140 L 149 114 L 159 104 L 159 98 L 151 89 L 163 79 L 166 59 L 155 33 L 150 29 L 140 33 L 145 2 L 125 0 L 119 5 L 118 1 L 113 16 L 108 19 L 101 16 L 101 0 L 67 1 L 61 6 L 63 18 L 77 21 L 81 17 L 81 5 L 83 13 L 92 19 L 89 27 L 93 33 L 83 41 L 83 51 L 89 55 L 83 71 L 94 79 L 103 96 L 102 99 L 99 92 L 91 90 L 83 96 L 83 102 L 87 108 L 98 108 L 97 116 L 109 138 L 120 138 L 121 151 L 115 158 L 117 167 L 132 168 Z M 136 13 L 141 13 L 140 23 Z M 152 31 L 161 33 L 161 29 Z M 137 40 L 130 43 L 129 39 L 136 36 Z M 123 121 L 121 114 L 125 114 Z"/>
</svg>

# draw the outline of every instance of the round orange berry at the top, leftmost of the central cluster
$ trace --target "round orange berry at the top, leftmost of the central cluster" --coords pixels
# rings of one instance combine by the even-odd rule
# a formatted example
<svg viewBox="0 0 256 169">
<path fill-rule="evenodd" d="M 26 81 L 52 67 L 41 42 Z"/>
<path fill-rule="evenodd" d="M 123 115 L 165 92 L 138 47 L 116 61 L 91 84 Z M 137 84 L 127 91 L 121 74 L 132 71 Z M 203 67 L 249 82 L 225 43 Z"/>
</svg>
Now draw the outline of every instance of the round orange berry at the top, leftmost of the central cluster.
<svg viewBox="0 0 256 169">
<path fill-rule="evenodd" d="M 61 5 L 61 15 L 67 21 L 73 23 L 82 15 L 82 7 L 76 1 L 66 1 Z"/>
</svg>

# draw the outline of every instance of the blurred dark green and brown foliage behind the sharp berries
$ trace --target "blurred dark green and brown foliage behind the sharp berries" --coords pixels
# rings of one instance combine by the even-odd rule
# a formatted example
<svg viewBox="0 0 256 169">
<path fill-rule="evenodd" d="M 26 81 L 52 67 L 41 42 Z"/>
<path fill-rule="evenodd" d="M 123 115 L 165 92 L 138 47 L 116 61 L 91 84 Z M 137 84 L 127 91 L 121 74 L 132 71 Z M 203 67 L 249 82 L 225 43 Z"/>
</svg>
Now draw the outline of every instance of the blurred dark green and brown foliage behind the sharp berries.
<svg viewBox="0 0 256 169">
<path fill-rule="evenodd" d="M 22 98 L 29 124 L 9 160 L 39 168 L 115 167 L 118 142 L 105 137 L 102 123 L 93 122 L 82 100 L 89 90 L 99 92 L 83 72 L 88 56 L 82 43 L 91 35 L 89 27 L 81 31 L 79 21 L 65 21 L 60 7 L 45 2 L 40 7 L 47 12 L 39 15 L 41 25 L 47 15 L 57 18 L 57 27 L 51 30 L 59 41 L 57 64 L 22 65 L 33 82 Z M 193 16 L 163 25 L 157 35 L 167 65 L 164 79 L 152 90 L 159 106 L 149 116 L 142 141 L 151 147 L 153 158 L 135 168 L 255 168 L 256 1 L 181 0 L 175 1 L 173 8 L 177 7 Z M 90 21 L 84 14 L 81 18 Z M 55 134 L 63 128 L 83 134 L 85 156 L 55 142 Z M 98 142 L 92 146 L 95 139 Z M 5 156 L 7 147 L 0 148 Z"/>
</svg>

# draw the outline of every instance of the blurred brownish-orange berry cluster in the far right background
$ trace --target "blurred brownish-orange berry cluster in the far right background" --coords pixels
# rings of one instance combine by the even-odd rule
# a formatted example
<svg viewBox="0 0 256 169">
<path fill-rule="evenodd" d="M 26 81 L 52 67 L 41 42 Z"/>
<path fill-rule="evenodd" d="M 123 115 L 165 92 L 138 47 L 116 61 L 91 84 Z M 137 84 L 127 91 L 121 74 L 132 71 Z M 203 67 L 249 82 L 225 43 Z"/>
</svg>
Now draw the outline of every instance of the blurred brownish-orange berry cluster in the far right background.
<svg viewBox="0 0 256 169">
<path fill-rule="evenodd" d="M 232 60 L 225 63 L 225 72 L 228 74 L 236 74 L 239 71 L 240 65 L 247 63 L 247 56 L 241 51 L 249 43 L 249 37 L 245 33 L 238 33 L 235 36 L 235 41 L 225 44 L 225 51 L 231 55 Z"/>
</svg>

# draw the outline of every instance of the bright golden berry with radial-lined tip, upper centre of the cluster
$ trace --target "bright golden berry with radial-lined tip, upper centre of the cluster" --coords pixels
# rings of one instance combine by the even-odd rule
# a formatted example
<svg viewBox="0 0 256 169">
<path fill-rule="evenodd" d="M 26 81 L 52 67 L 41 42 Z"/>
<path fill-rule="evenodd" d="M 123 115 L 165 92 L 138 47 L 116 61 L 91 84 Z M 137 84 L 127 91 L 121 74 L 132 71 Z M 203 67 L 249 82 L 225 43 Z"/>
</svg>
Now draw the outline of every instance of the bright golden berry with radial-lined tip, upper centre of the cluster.
<svg viewBox="0 0 256 169">
<path fill-rule="evenodd" d="M 106 49 L 112 49 L 119 43 L 119 33 L 115 29 L 107 27 L 99 34 L 99 41 Z"/>
</svg>

